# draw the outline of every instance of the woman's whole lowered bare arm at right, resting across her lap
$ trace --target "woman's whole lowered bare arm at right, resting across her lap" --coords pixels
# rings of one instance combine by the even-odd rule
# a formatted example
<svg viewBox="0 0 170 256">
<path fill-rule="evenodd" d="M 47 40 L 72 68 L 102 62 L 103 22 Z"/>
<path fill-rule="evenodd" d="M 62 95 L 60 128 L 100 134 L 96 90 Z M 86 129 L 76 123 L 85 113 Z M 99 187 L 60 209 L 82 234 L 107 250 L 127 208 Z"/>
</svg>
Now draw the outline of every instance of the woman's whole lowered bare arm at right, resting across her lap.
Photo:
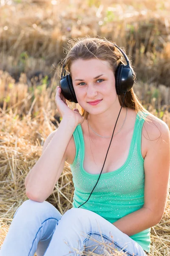
<svg viewBox="0 0 170 256">
<path fill-rule="evenodd" d="M 156 125 L 159 123 L 156 122 Z M 160 131 L 161 137 L 154 140 L 160 133 L 157 128 L 150 130 L 150 147 L 144 158 L 143 207 L 113 223 L 128 236 L 153 227 L 161 221 L 164 213 L 170 178 L 170 130 L 163 121 Z"/>
</svg>

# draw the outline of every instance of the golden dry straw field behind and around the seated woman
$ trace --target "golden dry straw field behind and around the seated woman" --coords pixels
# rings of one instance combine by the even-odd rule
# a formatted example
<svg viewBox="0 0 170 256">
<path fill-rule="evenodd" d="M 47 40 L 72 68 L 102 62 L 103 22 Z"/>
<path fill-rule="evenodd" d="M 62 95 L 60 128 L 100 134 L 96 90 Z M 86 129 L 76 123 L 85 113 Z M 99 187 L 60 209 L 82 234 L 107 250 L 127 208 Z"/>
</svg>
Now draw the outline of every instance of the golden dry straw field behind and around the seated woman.
<svg viewBox="0 0 170 256">
<path fill-rule="evenodd" d="M 170 128 L 169 0 L 0 0 L 0 246 L 28 199 L 25 178 L 61 120 L 55 94 L 68 38 L 85 35 L 124 47 L 136 72 L 133 90 Z M 47 201 L 64 214 L 73 194 L 66 163 Z M 151 240 L 150 255 L 170 255 L 169 193 Z"/>
</svg>

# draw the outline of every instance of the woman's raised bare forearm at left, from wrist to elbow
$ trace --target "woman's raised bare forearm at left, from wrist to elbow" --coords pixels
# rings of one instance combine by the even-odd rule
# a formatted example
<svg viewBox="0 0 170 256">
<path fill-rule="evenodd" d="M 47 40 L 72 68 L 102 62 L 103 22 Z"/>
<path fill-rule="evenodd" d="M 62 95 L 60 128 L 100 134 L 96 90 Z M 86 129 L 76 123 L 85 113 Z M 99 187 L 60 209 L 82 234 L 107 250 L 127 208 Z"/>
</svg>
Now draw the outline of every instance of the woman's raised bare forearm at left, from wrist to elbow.
<svg viewBox="0 0 170 256">
<path fill-rule="evenodd" d="M 53 192 L 67 160 L 65 150 L 75 128 L 74 121 L 62 119 L 54 137 L 26 177 L 26 195 L 29 199 L 43 202 Z"/>
</svg>

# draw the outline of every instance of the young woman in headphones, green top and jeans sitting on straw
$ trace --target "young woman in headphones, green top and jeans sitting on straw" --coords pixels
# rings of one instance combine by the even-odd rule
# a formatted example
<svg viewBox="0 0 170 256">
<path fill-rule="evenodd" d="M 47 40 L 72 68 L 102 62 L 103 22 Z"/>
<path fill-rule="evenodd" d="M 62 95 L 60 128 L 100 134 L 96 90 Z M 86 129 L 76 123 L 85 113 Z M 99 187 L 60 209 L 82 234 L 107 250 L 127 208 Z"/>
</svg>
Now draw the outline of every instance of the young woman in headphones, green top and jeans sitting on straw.
<svg viewBox="0 0 170 256">
<path fill-rule="evenodd" d="M 85 247 L 101 255 L 102 242 L 145 256 L 150 227 L 166 204 L 169 128 L 143 108 L 133 88 L 118 90 L 117 70 L 127 63 L 113 43 L 85 37 L 69 44 L 64 64 L 82 114 L 69 108 L 61 80 L 56 103 L 62 121 L 27 175 L 29 200 L 15 212 L 0 256 L 82 255 Z M 75 190 L 73 208 L 62 215 L 45 200 L 65 161 Z"/>
</svg>

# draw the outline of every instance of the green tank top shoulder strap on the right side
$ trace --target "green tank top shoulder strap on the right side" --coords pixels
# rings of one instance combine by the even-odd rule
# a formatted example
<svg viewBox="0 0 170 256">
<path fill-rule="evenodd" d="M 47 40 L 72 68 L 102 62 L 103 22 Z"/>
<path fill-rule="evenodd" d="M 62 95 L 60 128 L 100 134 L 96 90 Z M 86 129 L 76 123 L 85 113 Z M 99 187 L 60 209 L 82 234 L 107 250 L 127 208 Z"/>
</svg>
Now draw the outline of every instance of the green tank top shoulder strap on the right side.
<svg viewBox="0 0 170 256">
<path fill-rule="evenodd" d="M 141 152 L 141 140 L 142 140 L 142 128 L 144 125 L 144 121 L 146 120 L 146 117 L 149 115 L 149 113 L 146 113 L 144 111 L 139 111 L 137 113 L 137 123 L 136 123 L 136 134 L 135 134 L 135 144 L 137 146 L 137 153 L 139 158 L 144 162 L 144 158 L 142 157 Z"/>
</svg>

